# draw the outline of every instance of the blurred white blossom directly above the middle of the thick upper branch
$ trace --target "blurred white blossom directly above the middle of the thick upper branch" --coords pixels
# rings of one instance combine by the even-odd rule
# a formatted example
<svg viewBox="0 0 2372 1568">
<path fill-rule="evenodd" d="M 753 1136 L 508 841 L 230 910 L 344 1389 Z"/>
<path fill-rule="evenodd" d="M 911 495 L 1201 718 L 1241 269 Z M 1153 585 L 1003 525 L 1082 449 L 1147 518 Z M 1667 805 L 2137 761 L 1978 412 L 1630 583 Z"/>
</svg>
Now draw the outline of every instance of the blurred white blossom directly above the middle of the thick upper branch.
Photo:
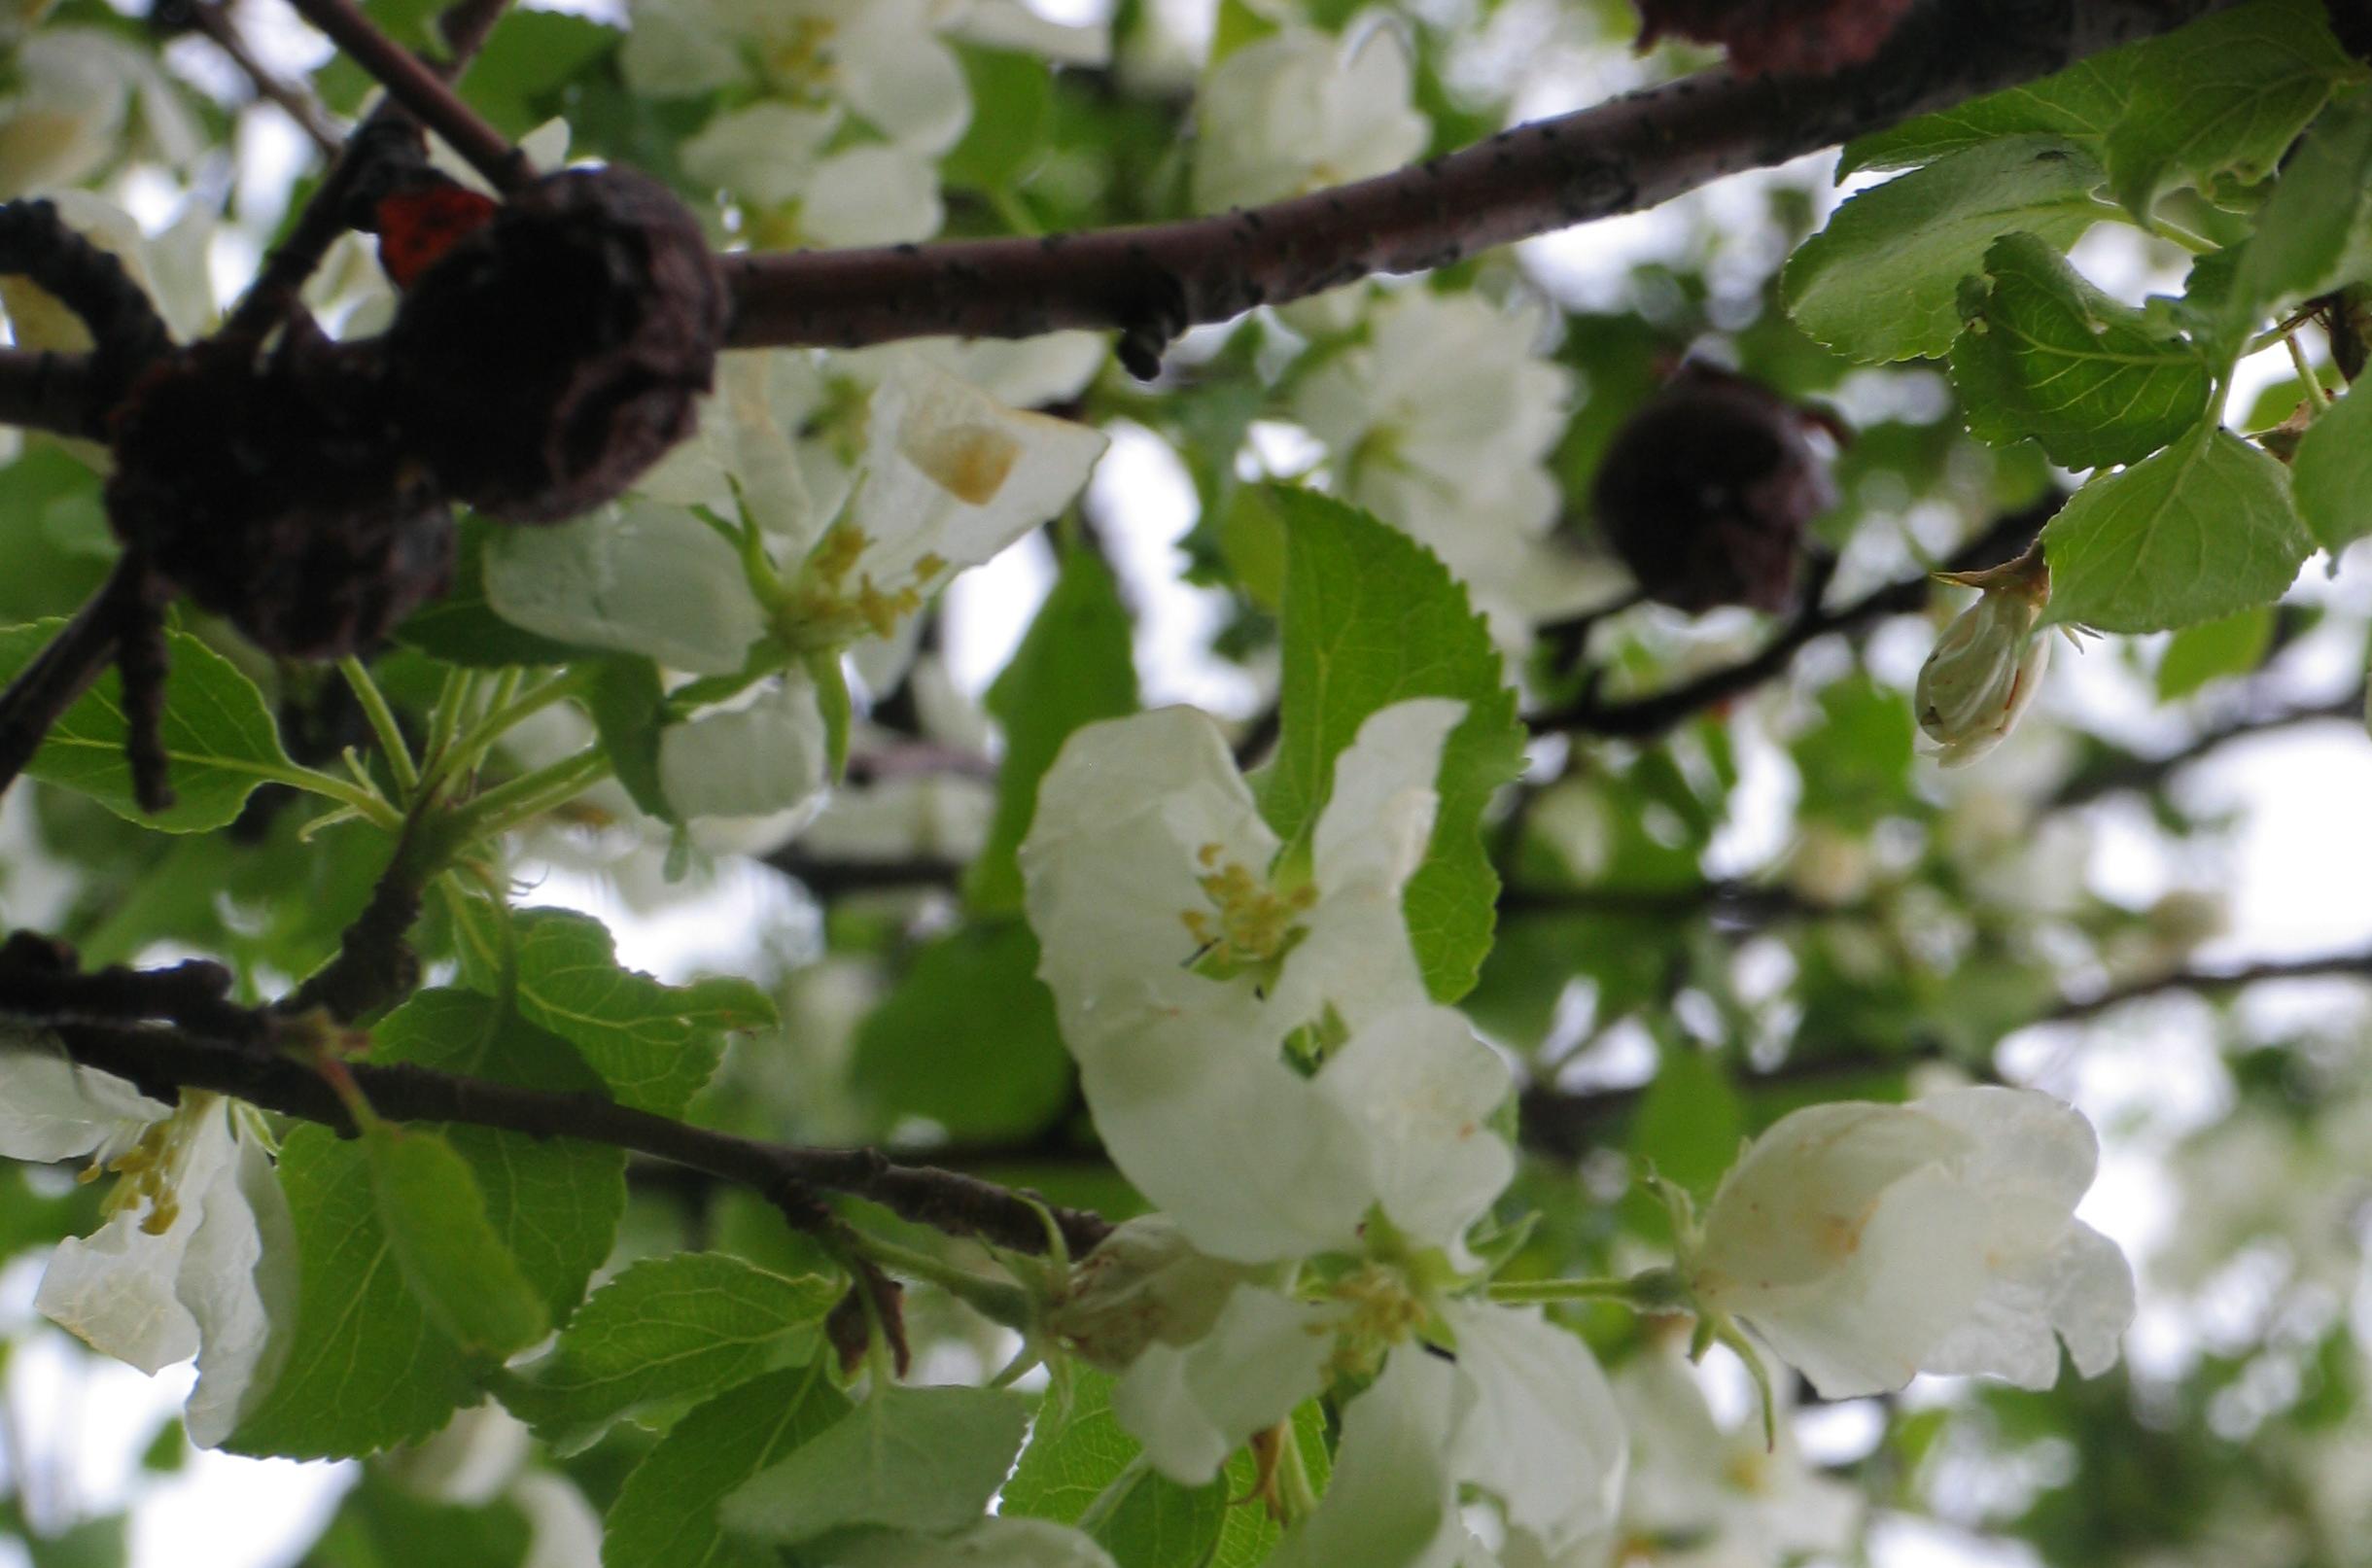
<svg viewBox="0 0 2372 1568">
<path fill-rule="evenodd" d="M 1193 202 L 1257 206 L 1388 173 L 1426 149 L 1409 45 L 1286 28 L 1231 52 L 1195 95 Z"/>
</svg>

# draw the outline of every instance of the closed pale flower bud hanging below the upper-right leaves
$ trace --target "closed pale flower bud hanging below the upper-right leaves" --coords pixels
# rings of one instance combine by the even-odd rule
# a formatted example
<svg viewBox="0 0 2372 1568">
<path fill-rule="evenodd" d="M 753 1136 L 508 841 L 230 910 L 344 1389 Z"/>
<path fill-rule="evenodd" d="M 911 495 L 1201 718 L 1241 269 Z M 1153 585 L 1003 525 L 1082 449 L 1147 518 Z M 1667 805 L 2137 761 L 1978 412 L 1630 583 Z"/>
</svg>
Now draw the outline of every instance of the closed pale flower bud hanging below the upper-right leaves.
<svg viewBox="0 0 2372 1568">
<path fill-rule="evenodd" d="M 1957 769 L 2000 745 L 2042 686 L 2052 645 L 2035 633 L 2035 622 L 2052 598 L 2052 569 L 2035 548 L 1988 572 L 1936 576 L 1983 591 L 1936 638 L 1936 652 L 1919 667 L 1919 686 L 1912 690 L 1919 728 L 1936 742 L 1936 759 Z"/>
</svg>

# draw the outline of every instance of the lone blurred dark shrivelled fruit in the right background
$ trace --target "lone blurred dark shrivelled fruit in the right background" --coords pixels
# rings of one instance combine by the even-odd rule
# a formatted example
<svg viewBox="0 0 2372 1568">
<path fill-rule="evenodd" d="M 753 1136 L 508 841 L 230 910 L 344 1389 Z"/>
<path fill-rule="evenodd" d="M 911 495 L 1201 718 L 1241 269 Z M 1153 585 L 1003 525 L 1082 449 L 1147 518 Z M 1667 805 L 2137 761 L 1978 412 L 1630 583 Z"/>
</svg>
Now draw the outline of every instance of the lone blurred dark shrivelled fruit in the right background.
<svg viewBox="0 0 2372 1568">
<path fill-rule="evenodd" d="M 1599 529 L 1649 598 L 1781 612 L 1805 524 L 1836 505 L 1812 415 L 1746 377 L 1682 365 L 1606 448 Z"/>
</svg>

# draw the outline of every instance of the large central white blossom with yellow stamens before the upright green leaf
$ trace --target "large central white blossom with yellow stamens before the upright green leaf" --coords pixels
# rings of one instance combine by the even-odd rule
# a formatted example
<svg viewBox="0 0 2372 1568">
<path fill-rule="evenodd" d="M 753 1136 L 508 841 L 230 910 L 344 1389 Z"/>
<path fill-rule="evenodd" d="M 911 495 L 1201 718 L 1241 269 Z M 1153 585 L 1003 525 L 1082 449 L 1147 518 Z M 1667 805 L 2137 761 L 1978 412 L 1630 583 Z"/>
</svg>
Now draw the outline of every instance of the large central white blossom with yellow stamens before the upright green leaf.
<svg viewBox="0 0 2372 1568">
<path fill-rule="evenodd" d="M 1307 871 L 1281 866 L 1217 726 L 1086 726 L 1039 785 L 1029 920 L 1115 1165 L 1205 1253 L 1354 1250 L 1371 1207 L 1464 1255 L 1506 1186 L 1485 1117 L 1511 1079 L 1430 1003 L 1399 894 L 1459 705 L 1416 700 L 1335 761 Z M 1312 1072 L 1283 1060 L 1290 1041 Z"/>
</svg>

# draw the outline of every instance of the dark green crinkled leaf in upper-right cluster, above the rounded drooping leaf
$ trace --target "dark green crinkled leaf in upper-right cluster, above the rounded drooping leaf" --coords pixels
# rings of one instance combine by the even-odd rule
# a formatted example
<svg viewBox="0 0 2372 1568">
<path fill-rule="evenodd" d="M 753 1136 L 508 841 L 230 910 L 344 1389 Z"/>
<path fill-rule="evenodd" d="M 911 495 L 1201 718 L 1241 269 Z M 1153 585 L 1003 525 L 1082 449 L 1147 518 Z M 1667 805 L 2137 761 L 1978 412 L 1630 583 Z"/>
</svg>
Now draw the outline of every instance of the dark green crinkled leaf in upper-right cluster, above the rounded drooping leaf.
<svg viewBox="0 0 2372 1568">
<path fill-rule="evenodd" d="M 1985 441 L 2033 436 L 2061 467 L 2137 463 L 2208 406 L 2213 375 L 2182 337 L 2094 289 L 2033 235 L 1985 251 L 1962 292 L 1952 382 Z"/>
</svg>

